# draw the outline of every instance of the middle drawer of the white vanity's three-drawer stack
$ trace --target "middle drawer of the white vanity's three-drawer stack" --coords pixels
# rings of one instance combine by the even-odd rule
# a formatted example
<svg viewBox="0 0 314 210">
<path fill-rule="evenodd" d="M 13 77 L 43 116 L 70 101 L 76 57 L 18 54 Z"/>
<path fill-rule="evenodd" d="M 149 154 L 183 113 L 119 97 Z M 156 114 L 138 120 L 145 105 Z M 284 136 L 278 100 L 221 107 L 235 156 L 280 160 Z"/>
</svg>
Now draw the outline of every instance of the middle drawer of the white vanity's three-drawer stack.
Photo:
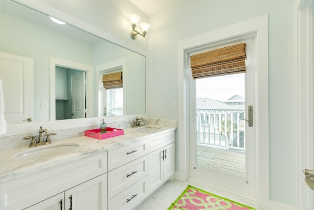
<svg viewBox="0 0 314 210">
<path fill-rule="evenodd" d="M 133 160 L 108 173 L 108 199 L 131 186 L 148 174 L 147 155 Z"/>
</svg>

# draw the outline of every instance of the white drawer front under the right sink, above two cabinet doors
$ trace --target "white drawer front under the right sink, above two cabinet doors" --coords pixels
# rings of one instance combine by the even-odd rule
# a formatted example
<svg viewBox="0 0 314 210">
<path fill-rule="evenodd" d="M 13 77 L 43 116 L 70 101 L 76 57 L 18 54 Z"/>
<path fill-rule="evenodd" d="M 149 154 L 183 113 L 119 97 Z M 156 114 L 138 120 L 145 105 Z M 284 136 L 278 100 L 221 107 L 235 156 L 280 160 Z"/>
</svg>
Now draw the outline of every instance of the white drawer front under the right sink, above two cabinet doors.
<svg viewBox="0 0 314 210">
<path fill-rule="evenodd" d="M 148 151 L 155 151 L 173 142 L 175 142 L 175 131 L 162 133 L 148 139 Z"/>
</svg>

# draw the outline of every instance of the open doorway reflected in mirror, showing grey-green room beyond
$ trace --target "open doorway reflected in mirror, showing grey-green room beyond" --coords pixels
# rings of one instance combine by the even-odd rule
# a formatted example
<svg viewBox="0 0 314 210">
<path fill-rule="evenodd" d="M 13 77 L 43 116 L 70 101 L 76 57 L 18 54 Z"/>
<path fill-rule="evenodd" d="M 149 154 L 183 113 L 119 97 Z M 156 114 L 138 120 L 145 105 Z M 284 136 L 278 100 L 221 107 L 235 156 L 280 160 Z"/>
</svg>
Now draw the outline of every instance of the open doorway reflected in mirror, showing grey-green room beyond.
<svg viewBox="0 0 314 210">
<path fill-rule="evenodd" d="M 55 119 L 86 118 L 86 72 L 55 67 Z"/>
</svg>

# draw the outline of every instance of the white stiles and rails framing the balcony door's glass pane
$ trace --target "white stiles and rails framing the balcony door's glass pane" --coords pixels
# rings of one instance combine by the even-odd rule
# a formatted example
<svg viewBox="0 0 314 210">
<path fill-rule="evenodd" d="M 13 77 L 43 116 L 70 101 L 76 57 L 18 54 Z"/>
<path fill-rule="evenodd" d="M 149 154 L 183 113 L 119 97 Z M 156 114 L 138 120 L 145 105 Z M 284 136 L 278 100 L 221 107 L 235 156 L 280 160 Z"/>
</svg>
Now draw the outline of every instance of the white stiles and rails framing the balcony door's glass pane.
<svg viewBox="0 0 314 210">
<path fill-rule="evenodd" d="M 254 117 L 253 117 L 253 127 L 249 127 L 248 123 L 244 123 L 245 125 L 245 136 L 246 136 L 246 147 L 245 147 L 245 177 L 242 176 L 237 176 L 236 174 L 220 171 L 217 169 L 213 169 L 210 167 L 205 167 L 202 165 L 197 164 L 197 140 L 196 140 L 196 115 L 197 115 L 197 107 L 196 107 L 196 99 L 197 99 L 197 88 L 196 88 L 196 83 L 197 80 L 193 79 L 190 68 L 187 68 L 187 76 L 189 77 L 187 82 L 189 86 L 189 115 L 194 116 L 196 118 L 193 122 L 189 122 L 189 134 L 190 134 L 190 141 L 189 141 L 189 165 L 190 165 L 190 170 L 189 170 L 189 180 L 206 180 L 208 177 L 210 177 L 211 181 L 208 181 L 208 185 L 211 186 L 211 188 L 214 189 L 220 189 L 224 188 L 224 191 L 231 192 L 233 194 L 241 196 L 241 198 L 244 198 L 246 200 L 250 200 L 251 202 L 256 202 L 256 196 L 257 196 L 257 142 L 256 142 L 256 126 L 255 126 L 255 109 L 256 109 L 256 104 L 257 100 L 255 97 L 256 94 L 256 60 L 255 60 L 255 55 L 256 55 L 256 37 L 255 33 L 248 33 L 248 34 L 243 34 L 240 36 L 233 37 L 232 39 L 227 38 L 220 40 L 219 43 L 211 43 L 209 44 L 204 44 L 202 46 L 199 46 L 200 49 L 194 49 L 194 52 L 192 55 L 199 54 L 203 51 L 210 51 L 226 46 L 231 46 L 239 43 L 246 43 L 246 54 L 247 54 L 247 67 L 246 67 L 246 73 L 243 73 L 243 77 L 245 80 L 245 105 L 244 105 L 244 110 L 245 110 L 245 116 L 247 118 L 247 112 L 248 112 L 248 105 L 252 105 L 254 108 Z M 254 62 L 254 63 L 253 63 Z M 188 66 L 190 66 L 189 59 L 187 60 Z M 250 66 L 249 66 L 250 65 Z M 234 74 L 238 75 L 238 74 Z M 228 75 L 227 75 L 228 76 Z M 231 75 L 229 75 L 231 76 Z M 212 77 L 215 78 L 215 77 Z M 209 79 L 209 78 L 208 78 Z M 208 82 L 210 83 L 210 82 Z M 243 95 L 242 95 L 243 96 Z M 230 96 L 229 96 L 230 97 Z M 215 99 L 215 98 L 211 98 Z M 253 140 L 253 141 L 251 141 Z M 195 161 L 195 162 L 194 162 Z M 211 182 L 211 183 L 210 183 Z M 227 190 L 228 188 L 228 190 Z"/>
</svg>

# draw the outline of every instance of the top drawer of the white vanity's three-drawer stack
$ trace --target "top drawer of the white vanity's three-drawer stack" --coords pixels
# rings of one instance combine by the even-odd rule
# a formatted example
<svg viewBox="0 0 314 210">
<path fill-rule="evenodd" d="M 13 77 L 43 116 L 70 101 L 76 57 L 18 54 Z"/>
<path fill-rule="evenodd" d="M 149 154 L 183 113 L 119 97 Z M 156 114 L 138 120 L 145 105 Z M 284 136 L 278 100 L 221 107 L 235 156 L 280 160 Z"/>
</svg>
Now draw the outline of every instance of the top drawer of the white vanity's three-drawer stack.
<svg viewBox="0 0 314 210">
<path fill-rule="evenodd" d="M 123 146 L 114 150 L 108 151 L 108 171 L 111 171 L 119 166 L 131 162 L 148 153 L 147 139 L 134 142 L 130 145 Z"/>
</svg>

